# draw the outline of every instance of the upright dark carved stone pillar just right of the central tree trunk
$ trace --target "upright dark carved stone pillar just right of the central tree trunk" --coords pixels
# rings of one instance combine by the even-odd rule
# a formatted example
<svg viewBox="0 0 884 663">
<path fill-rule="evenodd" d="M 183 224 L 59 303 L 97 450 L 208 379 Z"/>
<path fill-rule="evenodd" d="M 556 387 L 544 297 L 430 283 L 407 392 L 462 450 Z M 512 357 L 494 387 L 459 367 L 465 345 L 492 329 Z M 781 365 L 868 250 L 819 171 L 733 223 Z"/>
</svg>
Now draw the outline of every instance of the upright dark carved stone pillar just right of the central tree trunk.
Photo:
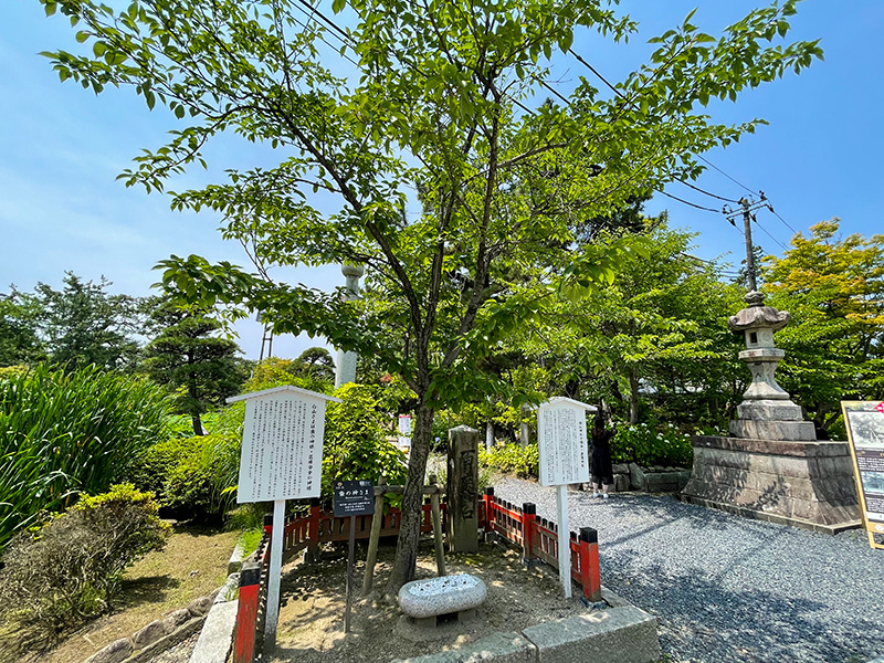
<svg viewBox="0 0 884 663">
<path fill-rule="evenodd" d="M 449 431 L 448 539 L 452 552 L 478 550 L 478 431 Z"/>
</svg>

